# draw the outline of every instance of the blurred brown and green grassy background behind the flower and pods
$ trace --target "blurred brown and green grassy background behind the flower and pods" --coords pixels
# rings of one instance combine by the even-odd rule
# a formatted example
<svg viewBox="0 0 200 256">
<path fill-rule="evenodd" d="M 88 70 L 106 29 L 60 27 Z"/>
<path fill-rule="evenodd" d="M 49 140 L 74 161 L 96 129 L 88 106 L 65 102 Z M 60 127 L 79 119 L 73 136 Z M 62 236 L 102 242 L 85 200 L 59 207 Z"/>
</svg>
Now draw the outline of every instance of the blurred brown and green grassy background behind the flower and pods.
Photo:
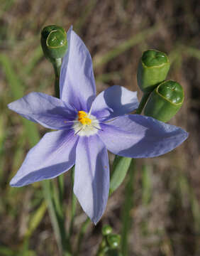
<svg viewBox="0 0 200 256">
<path fill-rule="evenodd" d="M 114 84 L 138 90 L 140 55 L 156 48 L 170 55 L 170 78 L 183 85 L 186 95 L 171 123 L 187 129 L 187 142 L 165 156 L 137 160 L 126 178 L 128 186 L 125 189 L 123 184 L 113 193 L 95 228 L 77 209 L 70 240 L 75 240 L 74 234 L 82 227 L 79 255 L 95 255 L 103 223 L 123 235 L 124 255 L 199 255 L 198 1 L 1 0 L 0 23 L 0 255 L 58 254 L 41 183 L 9 186 L 28 149 L 45 129 L 6 107 L 28 92 L 53 95 L 53 70 L 40 48 L 40 31 L 52 23 L 66 30 L 74 25 L 94 60 L 98 92 Z M 127 190 L 133 191 L 133 198 L 125 198 Z M 70 176 L 65 174 L 63 207 L 73 203 L 70 191 Z M 89 233 L 82 238 L 85 227 Z"/>
</svg>

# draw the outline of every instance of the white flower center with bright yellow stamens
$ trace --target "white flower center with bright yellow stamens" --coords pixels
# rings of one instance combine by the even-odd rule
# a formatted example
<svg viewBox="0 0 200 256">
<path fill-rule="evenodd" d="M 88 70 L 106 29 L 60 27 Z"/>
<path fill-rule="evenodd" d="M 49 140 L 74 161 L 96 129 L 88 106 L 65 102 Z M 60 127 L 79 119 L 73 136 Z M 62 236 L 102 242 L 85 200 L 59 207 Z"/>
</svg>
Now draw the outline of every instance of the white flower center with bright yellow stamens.
<svg viewBox="0 0 200 256">
<path fill-rule="evenodd" d="M 101 129 L 96 117 L 84 111 L 78 112 L 72 127 L 74 129 L 74 134 L 87 137 L 96 134 L 98 130 Z"/>
</svg>

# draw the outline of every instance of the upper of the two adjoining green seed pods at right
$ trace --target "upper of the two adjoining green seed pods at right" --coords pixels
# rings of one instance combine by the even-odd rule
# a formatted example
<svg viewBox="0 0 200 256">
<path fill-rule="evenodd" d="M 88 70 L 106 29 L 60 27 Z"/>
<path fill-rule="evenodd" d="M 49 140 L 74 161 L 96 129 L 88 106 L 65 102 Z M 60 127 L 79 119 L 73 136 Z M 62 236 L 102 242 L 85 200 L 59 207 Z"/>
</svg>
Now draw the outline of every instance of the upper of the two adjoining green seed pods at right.
<svg viewBox="0 0 200 256">
<path fill-rule="evenodd" d="M 165 53 L 158 50 L 146 50 L 138 65 L 137 80 L 140 90 L 152 92 L 164 81 L 170 69 L 170 61 Z"/>
</svg>

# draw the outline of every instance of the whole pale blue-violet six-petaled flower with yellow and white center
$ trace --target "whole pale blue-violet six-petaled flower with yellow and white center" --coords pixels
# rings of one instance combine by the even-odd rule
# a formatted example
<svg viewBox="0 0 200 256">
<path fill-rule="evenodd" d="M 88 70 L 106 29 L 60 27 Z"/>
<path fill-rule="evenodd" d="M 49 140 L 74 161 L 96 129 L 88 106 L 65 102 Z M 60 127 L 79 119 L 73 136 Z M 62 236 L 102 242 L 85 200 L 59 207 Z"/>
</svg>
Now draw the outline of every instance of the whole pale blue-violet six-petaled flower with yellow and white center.
<svg viewBox="0 0 200 256">
<path fill-rule="evenodd" d="M 136 92 L 113 86 L 96 98 L 91 56 L 72 28 L 62 61 L 60 99 L 32 92 L 8 106 L 48 132 L 30 149 L 11 186 L 55 178 L 75 164 L 74 193 L 89 218 L 97 223 L 109 196 L 109 158 L 153 157 L 187 139 L 179 127 L 151 117 L 128 114 L 138 107 Z"/>
</svg>

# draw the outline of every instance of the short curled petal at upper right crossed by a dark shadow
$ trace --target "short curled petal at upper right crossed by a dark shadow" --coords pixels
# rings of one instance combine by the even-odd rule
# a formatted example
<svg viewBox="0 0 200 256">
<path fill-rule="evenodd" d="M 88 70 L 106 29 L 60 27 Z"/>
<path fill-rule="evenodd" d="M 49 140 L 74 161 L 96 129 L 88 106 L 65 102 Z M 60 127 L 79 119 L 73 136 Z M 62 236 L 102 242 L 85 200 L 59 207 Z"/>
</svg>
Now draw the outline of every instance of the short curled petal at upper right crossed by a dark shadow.
<svg viewBox="0 0 200 256">
<path fill-rule="evenodd" d="M 105 114 L 105 110 L 107 110 L 109 117 L 117 117 L 132 112 L 138 105 L 137 92 L 113 85 L 96 97 L 92 103 L 91 113 L 101 116 L 101 113 Z"/>
</svg>

